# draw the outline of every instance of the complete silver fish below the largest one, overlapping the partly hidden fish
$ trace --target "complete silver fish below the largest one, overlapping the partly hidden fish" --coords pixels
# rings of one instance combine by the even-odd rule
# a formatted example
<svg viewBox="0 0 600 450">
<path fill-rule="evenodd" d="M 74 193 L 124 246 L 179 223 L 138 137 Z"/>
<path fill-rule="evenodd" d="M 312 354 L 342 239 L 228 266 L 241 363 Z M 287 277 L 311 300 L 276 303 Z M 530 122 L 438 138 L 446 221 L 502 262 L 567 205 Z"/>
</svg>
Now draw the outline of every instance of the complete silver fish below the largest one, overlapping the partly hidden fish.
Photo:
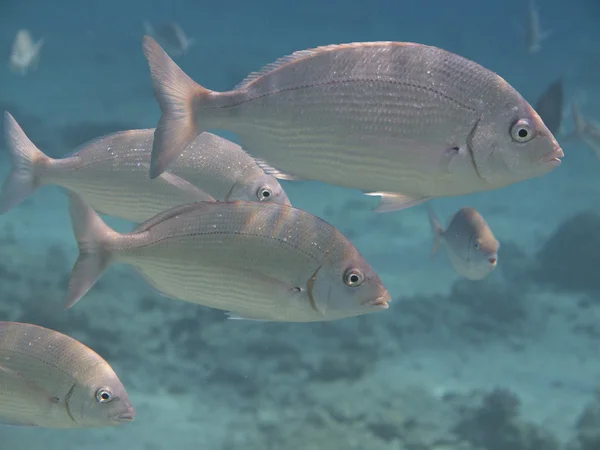
<svg viewBox="0 0 600 450">
<path fill-rule="evenodd" d="M 194 203 L 119 234 L 69 195 L 80 254 L 67 307 L 113 262 L 131 264 L 166 296 L 236 318 L 309 322 L 388 307 L 388 291 L 358 250 L 308 212 L 276 203 Z"/>
</svg>

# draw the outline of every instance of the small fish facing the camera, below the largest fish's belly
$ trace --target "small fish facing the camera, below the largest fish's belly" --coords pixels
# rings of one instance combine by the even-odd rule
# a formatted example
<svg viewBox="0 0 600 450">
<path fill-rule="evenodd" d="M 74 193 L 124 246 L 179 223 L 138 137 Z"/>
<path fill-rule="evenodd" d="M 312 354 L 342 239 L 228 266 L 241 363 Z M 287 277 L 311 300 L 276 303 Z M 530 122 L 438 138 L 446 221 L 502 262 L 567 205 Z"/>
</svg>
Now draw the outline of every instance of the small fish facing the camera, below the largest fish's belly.
<svg viewBox="0 0 600 450">
<path fill-rule="evenodd" d="M 481 214 L 461 208 L 444 230 L 433 210 L 428 208 L 428 212 L 434 236 L 432 256 L 444 244 L 454 270 L 469 280 L 481 280 L 496 268 L 500 243 Z"/>
</svg>

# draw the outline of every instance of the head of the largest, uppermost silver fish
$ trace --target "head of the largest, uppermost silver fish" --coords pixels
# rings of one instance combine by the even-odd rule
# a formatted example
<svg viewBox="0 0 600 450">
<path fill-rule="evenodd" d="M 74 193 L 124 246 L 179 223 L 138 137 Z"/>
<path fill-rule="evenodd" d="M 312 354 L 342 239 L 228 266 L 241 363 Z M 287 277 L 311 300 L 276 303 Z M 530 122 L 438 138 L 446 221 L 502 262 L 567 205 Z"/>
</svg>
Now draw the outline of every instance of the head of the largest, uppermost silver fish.
<svg viewBox="0 0 600 450">
<path fill-rule="evenodd" d="M 506 82 L 495 97 L 482 102 L 469 137 L 479 176 L 499 188 L 558 167 L 563 150 L 531 105 Z"/>
</svg>

